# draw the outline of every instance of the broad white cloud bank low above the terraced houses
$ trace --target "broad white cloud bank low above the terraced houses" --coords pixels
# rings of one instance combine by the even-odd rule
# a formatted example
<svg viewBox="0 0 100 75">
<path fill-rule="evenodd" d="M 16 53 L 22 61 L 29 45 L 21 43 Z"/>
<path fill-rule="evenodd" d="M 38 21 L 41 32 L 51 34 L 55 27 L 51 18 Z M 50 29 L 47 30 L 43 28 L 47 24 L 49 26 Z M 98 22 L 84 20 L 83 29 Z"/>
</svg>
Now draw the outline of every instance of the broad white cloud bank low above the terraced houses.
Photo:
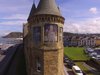
<svg viewBox="0 0 100 75">
<path fill-rule="evenodd" d="M 100 17 L 80 22 L 66 22 L 64 31 L 72 33 L 100 33 Z"/>
</svg>

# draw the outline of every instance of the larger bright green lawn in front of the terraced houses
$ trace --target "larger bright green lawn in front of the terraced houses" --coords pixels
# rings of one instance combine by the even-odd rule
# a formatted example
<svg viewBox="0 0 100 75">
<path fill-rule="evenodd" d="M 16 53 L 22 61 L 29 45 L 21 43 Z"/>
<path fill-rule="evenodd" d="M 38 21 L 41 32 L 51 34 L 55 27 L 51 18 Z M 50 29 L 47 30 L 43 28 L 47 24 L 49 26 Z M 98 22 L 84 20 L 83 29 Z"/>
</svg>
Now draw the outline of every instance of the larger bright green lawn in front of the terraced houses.
<svg viewBox="0 0 100 75">
<path fill-rule="evenodd" d="M 64 54 L 72 60 L 89 60 L 83 50 L 83 47 L 65 47 Z"/>
</svg>

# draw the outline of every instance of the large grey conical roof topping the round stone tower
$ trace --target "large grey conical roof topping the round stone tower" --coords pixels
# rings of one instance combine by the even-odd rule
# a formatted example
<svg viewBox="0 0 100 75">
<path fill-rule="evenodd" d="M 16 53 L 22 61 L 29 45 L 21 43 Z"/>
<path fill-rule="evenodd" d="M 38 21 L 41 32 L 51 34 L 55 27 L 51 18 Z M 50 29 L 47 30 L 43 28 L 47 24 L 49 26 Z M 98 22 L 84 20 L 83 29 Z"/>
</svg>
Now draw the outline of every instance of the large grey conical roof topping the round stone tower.
<svg viewBox="0 0 100 75">
<path fill-rule="evenodd" d="M 55 0 L 40 0 L 35 15 L 51 14 L 61 16 Z"/>
</svg>

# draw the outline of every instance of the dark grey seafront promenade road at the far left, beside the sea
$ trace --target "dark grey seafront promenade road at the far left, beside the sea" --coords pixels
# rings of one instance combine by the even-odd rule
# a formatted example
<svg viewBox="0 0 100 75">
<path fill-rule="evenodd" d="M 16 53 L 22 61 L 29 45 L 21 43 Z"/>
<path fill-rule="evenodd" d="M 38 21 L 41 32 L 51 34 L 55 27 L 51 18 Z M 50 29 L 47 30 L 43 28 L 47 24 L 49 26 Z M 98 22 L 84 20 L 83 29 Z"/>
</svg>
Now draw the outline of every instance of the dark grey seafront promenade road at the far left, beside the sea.
<svg viewBox="0 0 100 75">
<path fill-rule="evenodd" d="M 8 47 L 8 49 L 6 49 L 5 54 L 0 55 L 0 75 L 6 75 L 6 72 L 10 66 L 13 56 L 17 51 L 17 47 L 18 45 L 10 46 Z"/>
</svg>

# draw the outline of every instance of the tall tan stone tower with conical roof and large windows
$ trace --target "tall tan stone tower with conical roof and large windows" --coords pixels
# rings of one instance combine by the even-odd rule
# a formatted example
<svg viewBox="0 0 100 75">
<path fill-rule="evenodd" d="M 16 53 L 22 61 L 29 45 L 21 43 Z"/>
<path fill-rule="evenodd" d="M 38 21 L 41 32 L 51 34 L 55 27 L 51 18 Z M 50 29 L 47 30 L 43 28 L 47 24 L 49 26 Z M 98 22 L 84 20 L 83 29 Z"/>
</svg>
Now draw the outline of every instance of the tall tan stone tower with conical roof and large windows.
<svg viewBox="0 0 100 75">
<path fill-rule="evenodd" d="M 33 3 L 23 30 L 28 75 L 64 75 L 63 24 L 55 0 Z"/>
</svg>

